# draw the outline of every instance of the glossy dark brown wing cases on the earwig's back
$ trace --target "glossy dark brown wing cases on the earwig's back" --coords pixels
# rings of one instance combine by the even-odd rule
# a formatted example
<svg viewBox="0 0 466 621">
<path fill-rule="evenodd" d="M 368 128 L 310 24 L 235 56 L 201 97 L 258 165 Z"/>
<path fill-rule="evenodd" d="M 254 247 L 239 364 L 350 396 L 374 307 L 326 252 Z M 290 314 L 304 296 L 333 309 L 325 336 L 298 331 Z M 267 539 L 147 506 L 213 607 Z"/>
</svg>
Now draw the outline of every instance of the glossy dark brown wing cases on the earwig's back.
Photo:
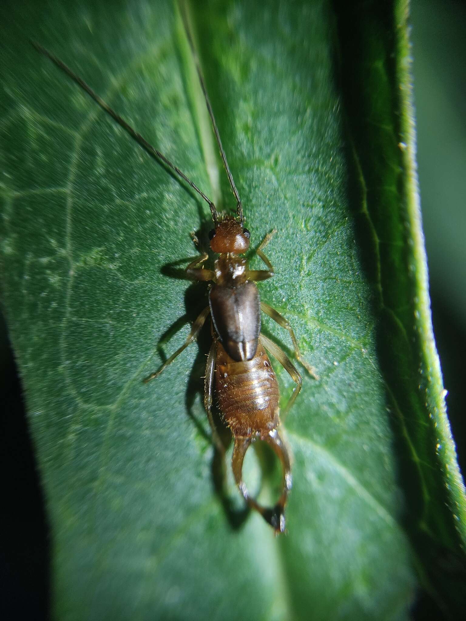
<svg viewBox="0 0 466 621">
<path fill-rule="evenodd" d="M 260 334 L 260 300 L 252 281 L 209 291 L 212 321 L 227 353 L 237 361 L 252 360 Z"/>
</svg>

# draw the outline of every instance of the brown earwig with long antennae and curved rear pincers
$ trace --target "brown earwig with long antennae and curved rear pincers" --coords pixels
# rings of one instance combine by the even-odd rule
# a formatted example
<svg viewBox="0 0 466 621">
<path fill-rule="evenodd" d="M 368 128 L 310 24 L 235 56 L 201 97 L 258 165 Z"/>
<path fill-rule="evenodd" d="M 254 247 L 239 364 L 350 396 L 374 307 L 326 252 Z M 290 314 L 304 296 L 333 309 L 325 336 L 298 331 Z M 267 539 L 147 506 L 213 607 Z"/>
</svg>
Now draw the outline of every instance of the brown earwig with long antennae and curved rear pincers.
<svg viewBox="0 0 466 621">
<path fill-rule="evenodd" d="M 283 365 L 296 383 L 293 394 L 286 405 L 286 410 L 290 409 L 295 402 L 301 389 L 302 379 L 285 352 L 260 332 L 261 311 L 272 317 L 281 327 L 288 330 L 296 358 L 314 378 L 316 378 L 316 375 L 313 368 L 301 356 L 295 333 L 285 317 L 282 317 L 265 302 L 260 301 L 256 285 L 257 281 L 271 278 L 274 274 L 272 263 L 265 256 L 263 248 L 270 242 L 275 231 L 265 236 L 256 251 L 257 255 L 265 263 L 265 266 L 267 266 L 266 270 L 250 270 L 247 259 L 241 256 L 249 249 L 250 232 L 244 227 L 242 203 L 227 163 L 224 148 L 222 147 L 199 60 L 186 23 L 185 30 L 212 122 L 212 129 L 214 130 L 231 191 L 236 200 L 235 215 L 220 216 L 214 203 L 206 194 L 170 160 L 130 127 L 83 79 L 79 78 L 65 63 L 48 52 L 39 43 L 32 42 L 32 45 L 78 83 L 150 155 L 155 156 L 156 159 L 161 160 L 168 168 L 175 171 L 176 175 L 188 183 L 208 203 L 214 224 L 214 228 L 209 233 L 210 248 L 218 257 L 213 269 L 208 269 L 204 264 L 208 260 L 209 255 L 207 252 L 204 252 L 187 266 L 186 277 L 211 283 L 209 286 L 209 304 L 194 321 L 185 343 L 165 361 L 157 372 L 152 373 L 144 381 L 148 382 L 157 378 L 168 365 L 171 365 L 175 358 L 196 340 L 210 315 L 212 345 L 206 365 L 204 406 L 211 427 L 212 441 L 223 457 L 225 448 L 212 418 L 212 404 L 214 394 L 216 394 L 219 410 L 230 428 L 234 440 L 232 471 L 235 482 L 247 504 L 252 509 L 257 510 L 268 524 L 275 529 L 276 533 L 283 533 L 285 532 L 285 505 L 291 489 L 291 465 L 286 444 L 280 435 L 278 384 L 267 351 Z M 198 245 L 198 240 L 195 236 L 194 243 Z M 250 495 L 243 481 L 242 468 L 245 453 L 249 446 L 257 440 L 262 440 L 272 446 L 283 470 L 280 498 L 273 507 L 263 507 L 260 505 Z"/>
</svg>

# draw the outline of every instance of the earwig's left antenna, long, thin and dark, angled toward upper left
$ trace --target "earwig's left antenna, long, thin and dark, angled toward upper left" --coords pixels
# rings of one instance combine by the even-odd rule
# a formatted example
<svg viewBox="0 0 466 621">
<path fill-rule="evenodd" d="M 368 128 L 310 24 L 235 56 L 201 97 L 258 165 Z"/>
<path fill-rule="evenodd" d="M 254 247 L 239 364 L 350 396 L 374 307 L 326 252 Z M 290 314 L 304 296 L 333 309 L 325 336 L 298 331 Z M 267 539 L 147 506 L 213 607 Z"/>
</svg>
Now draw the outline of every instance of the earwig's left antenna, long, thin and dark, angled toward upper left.
<svg viewBox="0 0 466 621">
<path fill-rule="evenodd" d="M 172 164 L 170 160 L 167 160 L 167 158 L 165 157 L 165 155 L 163 155 L 163 153 L 160 153 L 160 151 L 158 151 L 155 147 L 152 147 L 152 145 L 150 145 L 147 142 L 147 140 L 145 140 L 145 138 L 142 137 L 142 135 L 138 134 L 138 132 L 136 132 L 130 125 L 128 125 L 126 120 L 122 119 L 122 117 L 119 116 L 119 114 L 117 114 L 114 110 L 112 110 L 111 107 L 108 104 L 106 104 L 106 102 L 104 102 L 104 100 L 101 99 L 101 97 L 99 97 L 98 94 L 95 93 L 93 89 L 91 89 L 91 87 L 88 86 L 88 84 L 86 84 L 83 79 L 81 79 L 80 77 L 76 75 L 76 73 L 71 71 L 71 69 L 67 65 L 65 65 L 65 63 L 63 63 L 60 60 L 60 58 L 57 58 L 51 52 L 48 52 L 48 50 L 46 50 L 45 47 L 42 47 L 42 45 L 40 45 L 39 43 L 32 41 L 32 40 L 31 40 L 31 43 L 32 45 L 34 45 L 35 49 L 38 52 L 40 52 L 47 58 L 50 58 L 50 60 L 53 63 L 55 63 L 55 65 L 57 65 L 62 71 L 65 71 L 65 73 L 68 76 L 70 76 L 71 79 L 73 79 L 77 84 L 79 84 L 79 86 L 81 86 L 81 88 L 84 89 L 86 93 L 88 93 L 94 99 L 94 101 L 96 101 L 99 104 L 99 106 L 104 109 L 104 111 L 108 112 L 108 114 L 113 119 L 115 119 L 116 122 L 119 125 L 121 125 L 121 127 L 124 130 L 126 130 L 128 134 L 132 136 L 134 140 L 136 140 L 141 145 L 141 147 L 147 151 L 149 155 L 152 155 L 158 160 L 162 160 L 163 163 L 168 166 L 168 168 L 171 168 L 171 170 L 174 170 L 175 173 L 181 177 L 181 179 L 184 179 L 184 181 L 186 181 L 186 183 L 188 183 L 191 186 L 191 188 L 193 188 L 193 190 L 199 194 L 199 196 L 202 196 L 204 201 L 206 201 L 206 203 L 208 203 L 210 207 L 211 214 L 212 214 L 212 220 L 214 220 L 214 225 L 217 225 L 219 217 L 218 217 L 217 210 L 215 208 L 214 203 L 203 193 L 203 191 L 201 191 L 198 188 L 198 186 L 196 186 L 195 183 L 193 183 L 193 181 L 191 181 L 191 179 L 189 179 L 185 175 L 185 173 L 182 173 L 181 170 L 177 166 L 175 166 L 175 164 Z"/>
</svg>

